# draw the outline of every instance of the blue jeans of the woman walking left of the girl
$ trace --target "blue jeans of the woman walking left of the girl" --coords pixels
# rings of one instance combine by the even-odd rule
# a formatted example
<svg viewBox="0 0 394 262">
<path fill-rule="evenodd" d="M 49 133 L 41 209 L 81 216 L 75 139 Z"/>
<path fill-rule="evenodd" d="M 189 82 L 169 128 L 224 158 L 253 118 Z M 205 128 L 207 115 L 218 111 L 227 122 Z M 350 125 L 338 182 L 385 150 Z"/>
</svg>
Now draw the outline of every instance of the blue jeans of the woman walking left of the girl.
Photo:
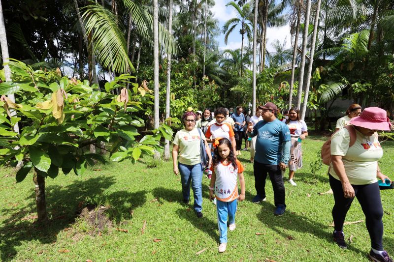
<svg viewBox="0 0 394 262">
<path fill-rule="evenodd" d="M 190 166 L 178 163 L 178 169 L 181 173 L 182 195 L 184 200 L 190 197 L 190 182 L 192 182 L 194 196 L 194 210 L 201 212 L 202 209 L 202 165 L 200 163 Z"/>
</svg>

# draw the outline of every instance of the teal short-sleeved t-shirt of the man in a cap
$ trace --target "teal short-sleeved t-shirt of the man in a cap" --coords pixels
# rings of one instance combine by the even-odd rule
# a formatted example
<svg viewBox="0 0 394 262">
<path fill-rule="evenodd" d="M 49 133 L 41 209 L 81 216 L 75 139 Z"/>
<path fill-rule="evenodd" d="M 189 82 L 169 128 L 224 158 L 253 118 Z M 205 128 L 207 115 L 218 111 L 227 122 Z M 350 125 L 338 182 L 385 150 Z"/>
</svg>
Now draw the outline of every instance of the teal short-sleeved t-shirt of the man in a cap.
<svg viewBox="0 0 394 262">
<path fill-rule="evenodd" d="M 282 143 L 290 141 L 289 127 L 282 121 L 275 119 L 271 122 L 259 121 L 253 128 L 252 137 L 256 139 L 255 161 L 266 165 L 279 165 L 282 159 Z M 288 152 L 283 159 L 289 162 Z M 290 152 L 289 152 L 290 153 Z"/>
</svg>

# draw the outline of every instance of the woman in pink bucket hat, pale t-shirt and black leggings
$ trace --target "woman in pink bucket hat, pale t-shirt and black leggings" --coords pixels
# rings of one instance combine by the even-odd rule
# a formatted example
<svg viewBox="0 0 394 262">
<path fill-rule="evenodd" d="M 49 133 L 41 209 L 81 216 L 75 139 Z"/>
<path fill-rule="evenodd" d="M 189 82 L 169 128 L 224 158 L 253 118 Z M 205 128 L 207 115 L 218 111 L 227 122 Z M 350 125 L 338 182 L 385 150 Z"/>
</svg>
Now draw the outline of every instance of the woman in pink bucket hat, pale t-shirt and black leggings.
<svg viewBox="0 0 394 262">
<path fill-rule="evenodd" d="M 332 208 L 334 241 L 346 248 L 343 223 L 346 213 L 356 197 L 365 215 L 366 228 L 371 239 L 369 258 L 373 261 L 393 262 L 383 249 L 383 207 L 378 179 L 391 183 L 380 171 L 378 160 L 383 156 L 378 130 L 390 130 L 391 123 L 385 110 L 365 108 L 360 116 L 353 117 L 350 131 L 340 129 L 331 137 L 331 164 L 329 184 L 335 204 Z M 350 133 L 355 132 L 356 142 L 349 146 Z"/>
</svg>

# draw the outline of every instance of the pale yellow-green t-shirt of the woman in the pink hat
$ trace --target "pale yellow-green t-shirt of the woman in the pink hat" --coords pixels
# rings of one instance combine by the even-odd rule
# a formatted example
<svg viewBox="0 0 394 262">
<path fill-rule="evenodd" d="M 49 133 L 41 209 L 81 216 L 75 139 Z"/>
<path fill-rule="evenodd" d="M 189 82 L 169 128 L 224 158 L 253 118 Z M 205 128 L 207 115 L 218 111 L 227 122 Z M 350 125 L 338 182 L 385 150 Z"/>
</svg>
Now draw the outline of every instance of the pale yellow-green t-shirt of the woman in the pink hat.
<svg viewBox="0 0 394 262">
<path fill-rule="evenodd" d="M 353 185 L 366 185 L 377 182 L 376 169 L 378 160 L 383 156 L 383 149 L 375 136 L 364 136 L 356 130 L 356 142 L 349 147 L 350 135 L 342 128 L 331 137 L 331 155 L 342 156 L 345 172 Z M 339 180 L 334 169 L 329 171 Z"/>
</svg>

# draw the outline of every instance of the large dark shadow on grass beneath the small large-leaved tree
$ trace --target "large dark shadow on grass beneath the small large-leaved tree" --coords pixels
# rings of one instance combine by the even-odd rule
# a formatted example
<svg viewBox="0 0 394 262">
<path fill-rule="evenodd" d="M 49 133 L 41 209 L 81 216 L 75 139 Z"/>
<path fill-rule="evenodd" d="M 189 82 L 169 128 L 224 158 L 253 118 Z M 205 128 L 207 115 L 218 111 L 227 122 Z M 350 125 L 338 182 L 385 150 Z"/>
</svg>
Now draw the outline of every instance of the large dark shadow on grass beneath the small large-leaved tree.
<svg viewBox="0 0 394 262">
<path fill-rule="evenodd" d="M 12 260 L 17 255 L 16 247 L 22 245 L 24 241 L 56 242 L 58 233 L 74 222 L 78 205 L 81 205 L 88 196 L 102 194 L 114 183 L 113 176 L 99 176 L 77 180 L 66 186 L 47 186 L 45 192 L 50 220 L 46 225 L 34 222 L 36 208 L 33 192 L 26 198 L 31 200 L 30 204 L 23 207 L 2 208 L 0 213 L 9 215 L 9 218 L 3 220 L 0 226 L 1 261 Z"/>
</svg>

